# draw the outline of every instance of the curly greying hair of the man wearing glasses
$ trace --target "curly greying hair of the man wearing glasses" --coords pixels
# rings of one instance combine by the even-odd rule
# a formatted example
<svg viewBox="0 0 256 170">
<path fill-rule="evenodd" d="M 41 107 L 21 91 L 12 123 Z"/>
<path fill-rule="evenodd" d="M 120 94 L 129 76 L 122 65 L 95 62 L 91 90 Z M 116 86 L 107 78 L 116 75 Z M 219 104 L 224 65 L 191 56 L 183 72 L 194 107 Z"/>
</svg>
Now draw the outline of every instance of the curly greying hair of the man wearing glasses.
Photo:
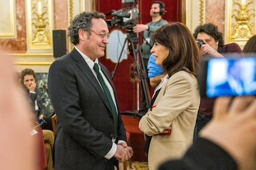
<svg viewBox="0 0 256 170">
<path fill-rule="evenodd" d="M 105 14 L 101 12 L 82 12 L 79 15 L 76 15 L 74 20 L 70 22 L 68 36 L 70 38 L 70 42 L 74 45 L 79 44 L 79 29 L 82 28 L 85 31 L 90 33 L 90 29 L 92 27 L 92 18 L 102 18 L 105 20 Z"/>
</svg>

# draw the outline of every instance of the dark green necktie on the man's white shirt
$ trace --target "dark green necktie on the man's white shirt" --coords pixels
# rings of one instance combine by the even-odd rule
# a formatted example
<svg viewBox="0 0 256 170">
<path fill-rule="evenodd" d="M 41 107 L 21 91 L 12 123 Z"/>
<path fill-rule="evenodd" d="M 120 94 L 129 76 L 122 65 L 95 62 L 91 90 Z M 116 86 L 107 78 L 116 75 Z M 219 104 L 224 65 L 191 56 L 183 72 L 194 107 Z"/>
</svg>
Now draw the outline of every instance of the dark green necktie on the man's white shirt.
<svg viewBox="0 0 256 170">
<path fill-rule="evenodd" d="M 111 112 L 114 118 L 114 138 L 117 138 L 117 111 L 116 111 L 116 106 L 114 105 L 113 99 L 111 97 L 111 94 L 109 92 L 108 86 L 106 86 L 106 83 L 104 79 L 102 78 L 100 71 L 99 71 L 99 66 L 97 63 L 94 64 L 93 70 L 96 72 L 98 81 L 100 81 L 101 87 L 103 88 L 103 91 L 106 95 L 106 98 L 108 99 L 108 103 L 111 107 Z"/>
</svg>

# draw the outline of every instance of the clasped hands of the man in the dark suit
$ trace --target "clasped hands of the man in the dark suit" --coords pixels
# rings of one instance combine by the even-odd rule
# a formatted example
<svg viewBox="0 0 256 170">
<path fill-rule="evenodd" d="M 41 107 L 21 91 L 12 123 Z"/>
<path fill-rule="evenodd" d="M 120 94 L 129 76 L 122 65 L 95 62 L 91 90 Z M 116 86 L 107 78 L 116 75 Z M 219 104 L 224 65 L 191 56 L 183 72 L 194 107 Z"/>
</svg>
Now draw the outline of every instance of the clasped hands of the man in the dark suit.
<svg viewBox="0 0 256 170">
<path fill-rule="evenodd" d="M 129 147 L 126 142 L 122 142 L 120 144 L 116 145 L 116 153 L 114 154 L 114 157 L 119 161 L 127 161 L 129 160 L 132 155 L 134 155 L 134 150 L 132 150 L 132 147 Z"/>
</svg>

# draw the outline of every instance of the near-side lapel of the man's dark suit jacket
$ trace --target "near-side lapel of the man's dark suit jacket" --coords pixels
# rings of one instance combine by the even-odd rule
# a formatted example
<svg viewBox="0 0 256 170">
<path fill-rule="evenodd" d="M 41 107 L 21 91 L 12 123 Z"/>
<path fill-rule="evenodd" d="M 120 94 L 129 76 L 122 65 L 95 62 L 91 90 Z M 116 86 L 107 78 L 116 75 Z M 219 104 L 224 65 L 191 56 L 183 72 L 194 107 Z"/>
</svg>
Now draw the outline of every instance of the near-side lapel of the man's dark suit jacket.
<svg viewBox="0 0 256 170">
<path fill-rule="evenodd" d="M 80 55 L 79 52 L 76 49 L 74 49 L 72 52 L 70 52 L 70 56 L 76 62 L 79 70 L 83 72 L 83 75 L 85 75 L 85 78 L 87 78 L 88 81 L 90 81 L 94 89 L 98 92 L 101 100 L 103 100 L 103 103 L 105 103 L 106 107 L 111 111 L 108 100 L 106 99 L 105 94 L 101 89 L 100 84 L 98 83 L 98 80 L 96 79 L 95 75 L 93 75 L 92 70 L 90 69 L 88 64 L 85 62 L 82 55 Z"/>
</svg>

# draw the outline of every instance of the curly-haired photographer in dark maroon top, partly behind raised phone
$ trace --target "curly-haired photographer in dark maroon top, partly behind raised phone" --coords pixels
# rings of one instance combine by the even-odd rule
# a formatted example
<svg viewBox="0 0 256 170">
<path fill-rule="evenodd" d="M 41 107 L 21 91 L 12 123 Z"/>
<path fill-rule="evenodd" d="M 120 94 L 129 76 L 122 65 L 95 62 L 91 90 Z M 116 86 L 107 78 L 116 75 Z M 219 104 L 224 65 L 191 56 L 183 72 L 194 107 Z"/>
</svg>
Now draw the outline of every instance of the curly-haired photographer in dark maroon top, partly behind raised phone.
<svg viewBox="0 0 256 170">
<path fill-rule="evenodd" d="M 205 23 L 197 26 L 193 35 L 195 39 L 201 39 L 204 42 L 200 47 L 201 55 L 210 54 L 215 57 L 223 57 L 222 54 L 224 53 L 243 53 L 238 44 L 234 42 L 224 45 L 223 34 L 218 31 L 218 26 L 213 25 L 212 23 Z M 201 98 L 195 134 L 210 121 L 213 114 L 214 102 L 215 98 Z"/>
</svg>

